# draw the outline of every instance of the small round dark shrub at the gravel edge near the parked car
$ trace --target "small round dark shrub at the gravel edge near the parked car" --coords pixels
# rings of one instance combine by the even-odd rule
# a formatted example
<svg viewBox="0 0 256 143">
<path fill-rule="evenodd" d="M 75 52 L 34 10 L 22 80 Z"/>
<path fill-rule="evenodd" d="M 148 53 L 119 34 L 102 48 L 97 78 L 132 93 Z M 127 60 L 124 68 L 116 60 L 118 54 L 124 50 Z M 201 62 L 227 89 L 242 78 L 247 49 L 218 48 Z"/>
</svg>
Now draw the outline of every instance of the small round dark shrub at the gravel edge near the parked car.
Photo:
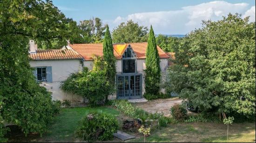
<svg viewBox="0 0 256 143">
<path fill-rule="evenodd" d="M 188 112 L 186 108 L 182 105 L 176 104 L 175 106 L 171 107 L 171 115 L 178 121 L 182 121 L 188 117 Z"/>
</svg>

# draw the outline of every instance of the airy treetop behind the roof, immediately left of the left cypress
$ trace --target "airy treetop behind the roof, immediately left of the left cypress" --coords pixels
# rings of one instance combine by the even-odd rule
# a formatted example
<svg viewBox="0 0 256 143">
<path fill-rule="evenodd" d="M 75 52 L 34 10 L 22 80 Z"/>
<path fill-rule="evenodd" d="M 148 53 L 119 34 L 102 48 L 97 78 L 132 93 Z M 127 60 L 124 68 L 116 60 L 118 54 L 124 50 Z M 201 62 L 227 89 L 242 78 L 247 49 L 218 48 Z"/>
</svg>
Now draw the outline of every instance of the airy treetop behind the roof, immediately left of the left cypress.
<svg viewBox="0 0 256 143">
<path fill-rule="evenodd" d="M 81 29 L 81 35 L 84 43 L 102 43 L 103 32 L 106 25 L 103 25 L 100 18 L 92 18 L 80 21 L 78 27 Z"/>
</svg>

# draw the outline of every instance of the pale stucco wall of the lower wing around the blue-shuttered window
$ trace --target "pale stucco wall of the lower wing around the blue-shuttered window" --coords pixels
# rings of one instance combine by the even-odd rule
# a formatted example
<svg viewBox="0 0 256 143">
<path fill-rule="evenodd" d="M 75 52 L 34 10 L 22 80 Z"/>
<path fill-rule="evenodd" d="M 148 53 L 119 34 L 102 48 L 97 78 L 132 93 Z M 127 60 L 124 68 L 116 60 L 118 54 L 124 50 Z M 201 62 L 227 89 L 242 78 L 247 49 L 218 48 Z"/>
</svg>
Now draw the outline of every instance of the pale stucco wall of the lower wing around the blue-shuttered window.
<svg viewBox="0 0 256 143">
<path fill-rule="evenodd" d="M 61 90 L 61 81 L 65 81 L 67 77 L 79 70 L 82 70 L 80 60 L 42 60 L 30 61 L 31 67 L 52 67 L 53 82 L 42 82 L 40 86 L 46 87 L 48 91 L 52 92 L 53 100 L 68 99 L 72 103 L 83 102 L 83 98 L 72 93 L 65 93 Z"/>
</svg>

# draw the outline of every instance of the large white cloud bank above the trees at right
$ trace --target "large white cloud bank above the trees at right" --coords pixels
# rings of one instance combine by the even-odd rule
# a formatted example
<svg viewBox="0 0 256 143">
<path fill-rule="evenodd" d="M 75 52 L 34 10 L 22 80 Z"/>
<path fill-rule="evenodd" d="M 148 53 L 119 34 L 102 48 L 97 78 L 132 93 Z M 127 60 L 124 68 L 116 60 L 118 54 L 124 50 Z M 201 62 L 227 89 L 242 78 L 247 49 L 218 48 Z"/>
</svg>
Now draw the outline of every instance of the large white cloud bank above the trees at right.
<svg viewBox="0 0 256 143">
<path fill-rule="evenodd" d="M 110 22 L 110 27 L 113 28 L 121 22 L 132 19 L 140 25 L 152 25 L 156 34 L 185 34 L 201 27 L 202 20 L 219 20 L 229 12 L 254 16 L 254 19 L 250 20 L 255 21 L 255 6 L 249 10 L 248 6 L 247 3 L 232 4 L 226 1 L 211 1 L 195 6 L 182 7 L 181 10 L 176 11 L 141 12 L 130 14 L 127 17 L 119 16 L 112 22 L 108 22 Z"/>
</svg>

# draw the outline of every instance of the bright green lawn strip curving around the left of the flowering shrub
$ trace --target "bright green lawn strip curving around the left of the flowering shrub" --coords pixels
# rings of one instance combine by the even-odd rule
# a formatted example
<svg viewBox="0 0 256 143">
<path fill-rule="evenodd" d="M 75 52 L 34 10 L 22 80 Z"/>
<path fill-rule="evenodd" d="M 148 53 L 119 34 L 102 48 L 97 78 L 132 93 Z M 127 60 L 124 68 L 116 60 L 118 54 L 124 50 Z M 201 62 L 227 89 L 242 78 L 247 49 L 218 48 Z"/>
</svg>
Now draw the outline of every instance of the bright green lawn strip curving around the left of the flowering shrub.
<svg viewBox="0 0 256 143">
<path fill-rule="evenodd" d="M 47 142 L 73 142 L 74 131 L 79 125 L 79 121 L 85 117 L 88 112 L 97 111 L 119 116 L 120 112 L 108 107 L 79 107 L 79 108 L 64 108 L 60 114 L 54 118 L 54 123 L 49 126 L 42 140 Z"/>
</svg>

